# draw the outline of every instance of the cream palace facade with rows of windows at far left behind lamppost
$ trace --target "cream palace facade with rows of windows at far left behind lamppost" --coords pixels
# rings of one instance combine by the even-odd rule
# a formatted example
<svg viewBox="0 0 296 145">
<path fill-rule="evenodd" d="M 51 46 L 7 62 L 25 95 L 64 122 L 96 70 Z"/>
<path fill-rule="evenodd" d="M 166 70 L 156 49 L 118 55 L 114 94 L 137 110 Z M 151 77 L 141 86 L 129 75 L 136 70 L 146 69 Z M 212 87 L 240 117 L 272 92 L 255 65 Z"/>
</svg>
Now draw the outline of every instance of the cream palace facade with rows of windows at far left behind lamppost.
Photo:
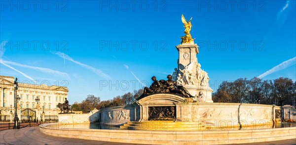
<svg viewBox="0 0 296 145">
<path fill-rule="evenodd" d="M 14 77 L 0 76 L 0 120 L 11 120 L 14 116 Z M 68 98 L 68 88 L 60 86 L 34 85 L 18 82 L 18 115 L 20 120 L 57 120 L 58 103 Z M 38 104 L 36 98 L 39 98 Z M 43 113 L 44 112 L 44 113 Z M 42 114 L 44 114 L 42 116 Z"/>
</svg>

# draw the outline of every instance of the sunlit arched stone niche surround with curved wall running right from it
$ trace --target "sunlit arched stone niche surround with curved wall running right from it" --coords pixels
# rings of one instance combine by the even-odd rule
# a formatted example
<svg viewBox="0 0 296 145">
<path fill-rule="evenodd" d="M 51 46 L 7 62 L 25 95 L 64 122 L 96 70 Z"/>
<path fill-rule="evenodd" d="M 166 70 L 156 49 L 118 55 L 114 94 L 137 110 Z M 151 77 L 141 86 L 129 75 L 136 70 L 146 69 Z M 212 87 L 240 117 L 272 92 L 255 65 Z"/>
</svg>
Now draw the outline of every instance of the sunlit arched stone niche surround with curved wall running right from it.
<svg viewBox="0 0 296 145">
<path fill-rule="evenodd" d="M 136 121 L 148 121 L 150 106 L 176 107 L 176 121 L 197 122 L 205 125 L 238 124 L 250 126 L 256 124 L 272 124 L 280 122 L 277 112 L 279 106 L 249 103 L 202 103 L 193 98 L 184 98 L 171 94 L 156 94 L 137 102 L 139 106 Z"/>
</svg>

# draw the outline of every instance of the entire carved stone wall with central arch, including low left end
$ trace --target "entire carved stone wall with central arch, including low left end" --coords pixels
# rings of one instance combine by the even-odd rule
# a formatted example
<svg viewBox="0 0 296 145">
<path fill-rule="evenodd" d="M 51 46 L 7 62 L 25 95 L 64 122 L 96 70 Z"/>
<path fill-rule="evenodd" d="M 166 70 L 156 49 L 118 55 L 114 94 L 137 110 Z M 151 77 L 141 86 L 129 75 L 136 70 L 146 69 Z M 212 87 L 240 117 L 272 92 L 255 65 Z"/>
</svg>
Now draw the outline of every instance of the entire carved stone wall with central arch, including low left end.
<svg viewBox="0 0 296 145">
<path fill-rule="evenodd" d="M 173 121 L 200 122 L 207 128 L 230 125 L 265 125 L 281 121 L 279 106 L 247 103 L 202 103 L 193 99 L 172 94 L 155 94 L 144 97 L 129 106 L 108 107 L 93 110 L 88 114 L 59 114 L 59 121 L 64 120 L 69 123 L 100 122 L 107 125 L 122 125 L 130 121 L 144 122 L 149 121 L 149 115 L 151 115 L 149 109 L 153 107 L 172 107 L 174 108 Z"/>
</svg>

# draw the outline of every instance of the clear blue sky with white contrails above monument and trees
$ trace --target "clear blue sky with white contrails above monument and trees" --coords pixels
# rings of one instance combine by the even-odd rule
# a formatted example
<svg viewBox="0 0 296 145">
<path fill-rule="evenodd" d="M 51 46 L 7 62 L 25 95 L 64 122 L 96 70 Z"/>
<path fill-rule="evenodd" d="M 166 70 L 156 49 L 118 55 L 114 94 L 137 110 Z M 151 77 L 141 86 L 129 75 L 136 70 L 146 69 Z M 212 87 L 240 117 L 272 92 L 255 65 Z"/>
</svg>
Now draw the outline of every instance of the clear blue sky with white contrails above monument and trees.
<svg viewBox="0 0 296 145">
<path fill-rule="evenodd" d="M 0 75 L 67 86 L 70 103 L 89 94 L 111 99 L 174 71 L 184 14 L 213 90 L 244 77 L 295 81 L 295 7 L 294 0 L 0 0 Z"/>
</svg>

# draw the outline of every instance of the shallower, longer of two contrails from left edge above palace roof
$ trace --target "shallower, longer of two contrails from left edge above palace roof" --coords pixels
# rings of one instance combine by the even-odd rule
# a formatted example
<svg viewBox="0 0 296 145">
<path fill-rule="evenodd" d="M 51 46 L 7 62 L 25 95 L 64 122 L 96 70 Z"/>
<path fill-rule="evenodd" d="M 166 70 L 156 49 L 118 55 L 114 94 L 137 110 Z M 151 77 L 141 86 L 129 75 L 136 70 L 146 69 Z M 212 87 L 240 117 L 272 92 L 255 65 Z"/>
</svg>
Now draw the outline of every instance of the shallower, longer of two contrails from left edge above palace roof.
<svg viewBox="0 0 296 145">
<path fill-rule="evenodd" d="M 6 60 L 1 60 L 1 62 L 6 63 L 6 64 L 11 64 L 11 65 L 16 65 L 16 66 L 21 66 L 21 67 L 25 67 L 25 68 L 34 69 L 34 70 L 42 71 L 42 72 L 53 74 L 53 75 L 59 75 L 59 76 L 62 76 L 62 77 L 70 78 L 67 73 L 52 70 L 52 69 L 49 69 L 49 68 L 30 66 L 30 65 L 20 64 L 20 63 L 16 63 L 16 62 L 12 62 L 12 61 L 6 61 Z"/>
</svg>

